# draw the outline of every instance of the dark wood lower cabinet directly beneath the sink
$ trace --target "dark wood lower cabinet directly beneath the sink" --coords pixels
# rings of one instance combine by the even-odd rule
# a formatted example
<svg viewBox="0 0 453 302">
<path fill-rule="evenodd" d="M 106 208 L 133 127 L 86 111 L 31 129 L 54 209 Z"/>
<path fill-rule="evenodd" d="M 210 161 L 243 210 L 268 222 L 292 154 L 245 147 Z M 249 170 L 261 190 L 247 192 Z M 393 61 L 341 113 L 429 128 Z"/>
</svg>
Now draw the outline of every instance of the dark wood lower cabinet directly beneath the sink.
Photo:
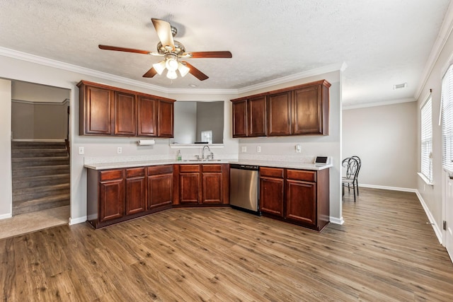
<svg viewBox="0 0 453 302">
<path fill-rule="evenodd" d="M 229 204 L 229 164 L 175 165 L 174 206 Z"/>
</svg>

